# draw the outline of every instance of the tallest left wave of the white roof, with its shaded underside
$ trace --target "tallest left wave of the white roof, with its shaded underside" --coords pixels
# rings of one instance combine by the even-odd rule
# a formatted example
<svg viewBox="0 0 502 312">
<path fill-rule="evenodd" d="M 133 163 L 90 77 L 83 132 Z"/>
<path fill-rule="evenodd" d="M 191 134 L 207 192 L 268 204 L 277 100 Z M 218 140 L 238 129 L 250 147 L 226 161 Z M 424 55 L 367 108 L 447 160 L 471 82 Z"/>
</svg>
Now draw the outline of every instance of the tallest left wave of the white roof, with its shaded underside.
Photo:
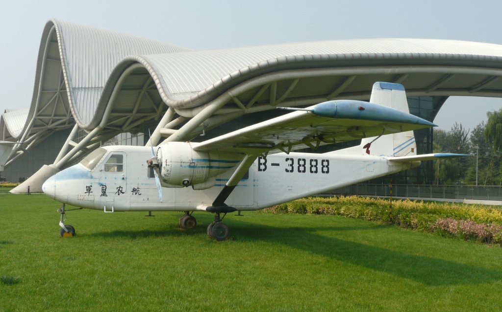
<svg viewBox="0 0 502 312">
<path fill-rule="evenodd" d="M 50 20 L 42 34 L 32 104 L 23 130 L 29 128 L 34 115 L 38 117 L 44 110 L 50 112 L 52 118 L 54 115 L 66 116 L 70 123 L 77 120 L 83 126 L 94 115 L 110 73 L 124 57 L 187 51 L 191 50 L 138 36 Z M 57 93 L 58 99 L 53 98 Z M 53 103 L 46 107 L 45 102 L 51 100 Z M 52 114 L 51 109 L 57 100 L 62 105 Z M 71 115 L 68 114 L 70 110 Z M 39 126 L 48 126 L 49 123 L 46 118 L 46 122 Z"/>
</svg>

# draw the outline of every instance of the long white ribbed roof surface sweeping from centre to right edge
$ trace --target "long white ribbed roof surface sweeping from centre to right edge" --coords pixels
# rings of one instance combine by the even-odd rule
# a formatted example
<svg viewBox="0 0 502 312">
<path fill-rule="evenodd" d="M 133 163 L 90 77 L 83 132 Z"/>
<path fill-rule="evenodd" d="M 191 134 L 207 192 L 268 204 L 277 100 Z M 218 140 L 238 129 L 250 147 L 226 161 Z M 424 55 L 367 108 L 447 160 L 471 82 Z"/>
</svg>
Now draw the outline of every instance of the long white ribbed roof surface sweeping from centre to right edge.
<svg viewBox="0 0 502 312">
<path fill-rule="evenodd" d="M 352 65 L 502 67 L 502 46 L 431 39 L 358 39 L 129 57 L 152 67 L 164 102 L 196 107 L 219 90 L 273 70 Z M 247 76 L 247 77 L 246 77 Z"/>
</svg>

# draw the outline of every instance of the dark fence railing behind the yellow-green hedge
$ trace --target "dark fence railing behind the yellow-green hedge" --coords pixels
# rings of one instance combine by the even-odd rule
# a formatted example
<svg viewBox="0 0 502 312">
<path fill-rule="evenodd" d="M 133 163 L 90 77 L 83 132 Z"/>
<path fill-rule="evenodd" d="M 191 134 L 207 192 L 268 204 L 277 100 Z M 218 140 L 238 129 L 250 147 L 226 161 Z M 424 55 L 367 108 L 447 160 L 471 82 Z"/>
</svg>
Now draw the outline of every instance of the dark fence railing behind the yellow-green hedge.
<svg viewBox="0 0 502 312">
<path fill-rule="evenodd" d="M 389 196 L 389 184 L 354 184 L 337 188 L 324 195 Z M 392 196 L 443 199 L 502 200 L 500 186 L 406 185 L 393 184 Z"/>
</svg>

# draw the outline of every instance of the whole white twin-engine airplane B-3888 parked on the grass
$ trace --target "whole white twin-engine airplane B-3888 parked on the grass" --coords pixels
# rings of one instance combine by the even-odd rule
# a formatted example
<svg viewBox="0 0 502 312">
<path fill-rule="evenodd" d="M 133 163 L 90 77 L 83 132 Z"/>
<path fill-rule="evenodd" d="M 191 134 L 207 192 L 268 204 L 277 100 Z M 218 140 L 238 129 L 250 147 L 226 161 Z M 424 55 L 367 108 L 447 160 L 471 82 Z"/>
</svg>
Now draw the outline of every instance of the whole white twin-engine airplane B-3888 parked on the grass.
<svg viewBox="0 0 502 312">
<path fill-rule="evenodd" d="M 370 102 L 329 101 L 207 140 L 155 147 L 106 146 L 49 178 L 42 189 L 64 205 L 114 211 L 182 211 L 182 228 L 197 224 L 193 211 L 215 214 L 207 234 L 228 237 L 221 222 L 233 211 L 259 210 L 385 176 L 421 160 L 458 154 L 416 154 L 413 130 L 434 127 L 409 114 L 404 87 L 378 82 Z M 376 137 L 376 139 L 370 138 Z M 360 146 L 324 154 L 296 153 L 334 142 Z M 269 152 L 278 152 L 272 154 Z"/>
</svg>

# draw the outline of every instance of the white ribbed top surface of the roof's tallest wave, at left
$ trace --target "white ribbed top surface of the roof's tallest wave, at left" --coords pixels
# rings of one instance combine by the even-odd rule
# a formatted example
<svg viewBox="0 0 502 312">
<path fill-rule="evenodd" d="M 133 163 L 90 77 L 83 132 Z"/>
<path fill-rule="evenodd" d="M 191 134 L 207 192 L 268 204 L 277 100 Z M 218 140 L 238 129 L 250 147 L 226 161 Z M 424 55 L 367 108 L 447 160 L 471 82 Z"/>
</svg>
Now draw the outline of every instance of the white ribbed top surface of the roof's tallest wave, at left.
<svg viewBox="0 0 502 312">
<path fill-rule="evenodd" d="M 57 20 L 47 24 L 44 34 L 50 32 L 52 25 L 58 38 L 70 105 L 83 124 L 93 115 L 110 73 L 123 58 L 191 51 L 152 39 Z"/>
</svg>

